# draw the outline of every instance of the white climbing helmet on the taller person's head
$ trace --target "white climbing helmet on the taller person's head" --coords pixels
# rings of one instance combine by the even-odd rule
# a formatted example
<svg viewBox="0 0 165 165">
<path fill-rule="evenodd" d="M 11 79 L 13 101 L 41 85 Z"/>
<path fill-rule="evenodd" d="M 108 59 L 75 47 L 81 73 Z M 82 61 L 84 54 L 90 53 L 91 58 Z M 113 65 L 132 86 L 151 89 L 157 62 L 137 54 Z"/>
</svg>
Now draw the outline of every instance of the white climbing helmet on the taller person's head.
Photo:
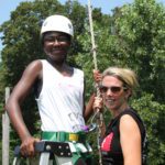
<svg viewBox="0 0 165 165">
<path fill-rule="evenodd" d="M 41 36 L 45 32 L 56 31 L 74 36 L 73 23 L 64 15 L 51 15 L 45 19 L 41 29 Z"/>
</svg>

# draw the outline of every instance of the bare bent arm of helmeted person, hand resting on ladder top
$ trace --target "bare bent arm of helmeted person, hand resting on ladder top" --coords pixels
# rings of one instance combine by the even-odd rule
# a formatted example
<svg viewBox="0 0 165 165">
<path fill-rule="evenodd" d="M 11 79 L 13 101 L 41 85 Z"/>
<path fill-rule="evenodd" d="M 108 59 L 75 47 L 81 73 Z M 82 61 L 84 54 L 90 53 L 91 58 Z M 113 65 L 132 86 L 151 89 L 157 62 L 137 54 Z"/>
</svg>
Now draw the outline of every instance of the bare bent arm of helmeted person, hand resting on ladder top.
<svg viewBox="0 0 165 165">
<path fill-rule="evenodd" d="M 11 123 L 22 141 L 21 153 L 29 156 L 34 155 L 33 144 L 37 140 L 31 136 L 23 121 L 21 103 L 24 101 L 36 78 L 38 77 L 42 67 L 40 63 L 41 62 L 35 61 L 26 67 L 6 105 L 6 110 L 9 114 Z"/>
</svg>

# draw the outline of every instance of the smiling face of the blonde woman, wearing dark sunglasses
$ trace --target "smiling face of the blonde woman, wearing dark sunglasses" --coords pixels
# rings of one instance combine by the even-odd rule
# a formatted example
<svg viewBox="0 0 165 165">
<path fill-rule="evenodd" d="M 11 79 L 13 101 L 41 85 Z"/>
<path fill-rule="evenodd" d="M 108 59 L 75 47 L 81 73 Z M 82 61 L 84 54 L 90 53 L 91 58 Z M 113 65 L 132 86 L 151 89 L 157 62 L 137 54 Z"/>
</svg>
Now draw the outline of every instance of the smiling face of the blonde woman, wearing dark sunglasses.
<svg viewBox="0 0 165 165">
<path fill-rule="evenodd" d="M 102 79 L 100 91 L 103 102 L 112 111 L 120 110 L 128 103 L 130 89 L 123 87 L 123 82 L 113 76 L 106 76 Z"/>
</svg>

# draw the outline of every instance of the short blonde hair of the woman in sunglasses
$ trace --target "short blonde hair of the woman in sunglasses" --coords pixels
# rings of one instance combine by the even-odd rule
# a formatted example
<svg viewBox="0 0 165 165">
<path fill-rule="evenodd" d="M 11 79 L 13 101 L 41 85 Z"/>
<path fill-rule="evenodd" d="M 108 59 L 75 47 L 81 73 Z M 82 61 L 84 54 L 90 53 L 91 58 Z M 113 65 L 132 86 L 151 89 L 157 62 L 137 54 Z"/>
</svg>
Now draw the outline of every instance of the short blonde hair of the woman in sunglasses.
<svg viewBox="0 0 165 165">
<path fill-rule="evenodd" d="M 102 78 L 106 76 L 117 77 L 123 82 L 123 86 L 131 90 L 139 86 L 136 74 L 129 68 L 109 67 L 103 72 Z"/>
</svg>

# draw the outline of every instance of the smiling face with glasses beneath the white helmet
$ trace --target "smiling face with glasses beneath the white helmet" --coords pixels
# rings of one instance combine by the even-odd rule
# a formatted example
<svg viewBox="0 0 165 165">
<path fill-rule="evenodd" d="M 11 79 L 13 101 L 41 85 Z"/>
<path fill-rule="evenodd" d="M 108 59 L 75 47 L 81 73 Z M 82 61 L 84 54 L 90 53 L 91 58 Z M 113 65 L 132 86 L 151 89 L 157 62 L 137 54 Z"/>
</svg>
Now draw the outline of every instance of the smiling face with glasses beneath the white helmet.
<svg viewBox="0 0 165 165">
<path fill-rule="evenodd" d="M 70 46 L 69 35 L 62 32 L 47 32 L 43 41 L 48 58 L 56 63 L 64 63 Z"/>
</svg>

